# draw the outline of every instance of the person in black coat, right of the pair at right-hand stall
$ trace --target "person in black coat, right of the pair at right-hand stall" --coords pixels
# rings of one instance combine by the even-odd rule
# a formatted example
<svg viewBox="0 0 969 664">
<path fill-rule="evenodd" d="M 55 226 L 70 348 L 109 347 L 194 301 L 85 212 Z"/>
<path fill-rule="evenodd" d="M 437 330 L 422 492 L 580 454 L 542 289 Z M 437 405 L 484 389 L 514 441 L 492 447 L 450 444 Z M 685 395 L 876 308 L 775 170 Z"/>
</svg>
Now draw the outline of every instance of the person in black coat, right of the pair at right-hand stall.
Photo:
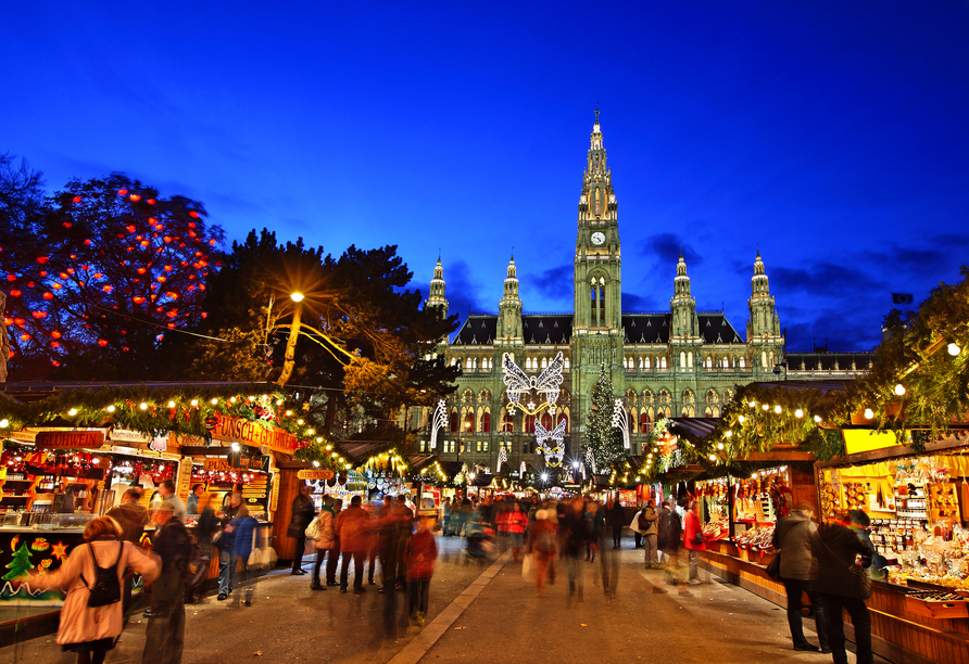
<svg viewBox="0 0 969 664">
<path fill-rule="evenodd" d="M 871 615 L 865 599 L 858 590 L 858 582 L 850 571 L 857 564 L 871 565 L 871 550 L 852 529 L 867 527 L 869 519 L 860 510 L 852 510 L 847 519 L 829 522 L 826 527 L 818 528 L 810 536 L 810 582 L 808 588 L 817 592 L 825 606 L 828 623 L 828 644 L 834 664 L 847 664 L 844 651 L 844 611 L 852 616 L 855 628 L 855 643 L 858 647 L 858 664 L 872 664 L 871 652 Z M 783 565 L 783 556 L 781 564 Z M 783 572 L 783 567 L 782 567 Z"/>
</svg>

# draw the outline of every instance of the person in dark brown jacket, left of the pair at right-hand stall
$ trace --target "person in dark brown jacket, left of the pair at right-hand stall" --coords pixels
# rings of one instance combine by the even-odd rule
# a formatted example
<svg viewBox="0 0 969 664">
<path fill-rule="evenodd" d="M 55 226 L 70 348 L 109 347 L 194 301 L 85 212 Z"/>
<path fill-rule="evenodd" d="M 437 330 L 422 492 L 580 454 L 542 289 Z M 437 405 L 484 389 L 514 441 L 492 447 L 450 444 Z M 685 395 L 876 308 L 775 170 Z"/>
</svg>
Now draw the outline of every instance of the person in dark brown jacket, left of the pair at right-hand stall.
<svg viewBox="0 0 969 664">
<path fill-rule="evenodd" d="M 815 612 L 815 625 L 818 633 L 818 641 L 821 652 L 831 652 L 828 644 L 828 623 L 825 617 L 825 604 L 817 592 L 808 589 L 810 580 L 810 535 L 817 531 L 811 522 L 814 508 L 809 502 L 802 501 L 786 516 L 777 522 L 773 531 L 773 548 L 780 549 L 781 557 L 781 583 L 788 595 L 788 625 L 791 628 L 791 638 L 794 640 L 794 650 L 817 651 L 818 649 L 804 638 L 804 628 L 801 624 L 801 596 L 808 593 Z"/>
</svg>

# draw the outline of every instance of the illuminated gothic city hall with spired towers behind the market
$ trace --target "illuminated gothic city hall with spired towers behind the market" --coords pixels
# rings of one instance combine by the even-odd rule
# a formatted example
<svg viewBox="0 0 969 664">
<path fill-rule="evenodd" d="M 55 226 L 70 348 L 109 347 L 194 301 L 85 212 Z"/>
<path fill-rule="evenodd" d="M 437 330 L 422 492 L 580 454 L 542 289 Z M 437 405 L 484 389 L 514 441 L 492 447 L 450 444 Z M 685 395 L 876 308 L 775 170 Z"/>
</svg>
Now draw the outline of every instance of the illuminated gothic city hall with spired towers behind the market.
<svg viewBox="0 0 969 664">
<path fill-rule="evenodd" d="M 440 452 L 443 461 L 466 462 L 480 473 L 517 471 L 521 462 L 541 470 L 538 418 L 548 431 L 565 423 L 563 464 L 568 469 L 582 454 L 592 388 L 604 367 L 615 397 L 622 399 L 628 413 L 629 454 L 639 455 L 658 419 L 719 417 L 737 385 L 775 380 L 776 367 L 794 359 L 783 357 L 784 339 L 759 252 L 751 266 L 745 333 L 723 311 L 696 308 L 682 254 L 676 266 L 670 265 L 669 311 L 622 310 L 618 203 L 597 111 L 578 207 L 574 311 L 526 314 L 513 256 L 498 314 L 469 314 L 453 341 L 439 347 L 450 362 L 461 365 L 463 374 L 446 403 L 448 417 L 435 448 L 426 426 L 419 451 Z M 426 304 L 448 310 L 440 258 Z M 546 409 L 529 416 L 521 408 L 508 407 L 502 370 L 505 353 L 534 378 L 562 354 L 564 380 L 554 412 Z M 867 354 L 860 355 L 866 356 L 867 368 Z M 827 376 L 832 360 L 836 366 L 834 356 L 806 354 L 797 356 L 796 367 L 788 362 L 785 371 L 790 367 L 801 370 L 802 378 Z M 846 373 L 855 369 L 855 363 L 845 367 Z M 429 416 L 426 412 L 421 418 L 425 425 Z"/>
</svg>

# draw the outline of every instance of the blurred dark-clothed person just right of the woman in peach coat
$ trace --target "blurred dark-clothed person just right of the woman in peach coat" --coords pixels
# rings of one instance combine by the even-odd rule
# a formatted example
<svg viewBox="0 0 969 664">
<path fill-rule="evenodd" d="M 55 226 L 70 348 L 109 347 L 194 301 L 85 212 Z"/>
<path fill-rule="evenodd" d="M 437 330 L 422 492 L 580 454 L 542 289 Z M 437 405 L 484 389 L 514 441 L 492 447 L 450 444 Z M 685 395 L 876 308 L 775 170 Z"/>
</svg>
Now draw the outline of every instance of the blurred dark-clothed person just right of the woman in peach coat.
<svg viewBox="0 0 969 664">
<path fill-rule="evenodd" d="M 142 664 L 180 664 L 185 648 L 185 574 L 194 545 L 175 509 L 163 500 L 152 516 L 159 528 L 152 551 L 162 559 L 162 573 L 151 587 Z"/>
</svg>

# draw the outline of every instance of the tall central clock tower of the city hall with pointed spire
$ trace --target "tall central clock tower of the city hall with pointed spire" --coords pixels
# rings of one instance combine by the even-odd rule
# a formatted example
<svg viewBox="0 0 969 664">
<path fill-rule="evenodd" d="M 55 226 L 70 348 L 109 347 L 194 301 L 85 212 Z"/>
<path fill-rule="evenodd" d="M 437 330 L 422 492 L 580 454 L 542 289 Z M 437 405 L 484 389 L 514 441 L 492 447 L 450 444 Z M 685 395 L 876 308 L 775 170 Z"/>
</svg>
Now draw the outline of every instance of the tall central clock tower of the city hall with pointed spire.
<svg viewBox="0 0 969 664">
<path fill-rule="evenodd" d="M 596 108 L 579 196 L 575 259 L 571 379 L 574 412 L 579 416 L 575 426 L 581 431 L 586 429 L 592 387 L 599 380 L 601 365 L 605 365 L 606 371 L 612 374 L 616 394 L 624 391 L 617 210 L 613 174 L 606 162 Z"/>
</svg>

